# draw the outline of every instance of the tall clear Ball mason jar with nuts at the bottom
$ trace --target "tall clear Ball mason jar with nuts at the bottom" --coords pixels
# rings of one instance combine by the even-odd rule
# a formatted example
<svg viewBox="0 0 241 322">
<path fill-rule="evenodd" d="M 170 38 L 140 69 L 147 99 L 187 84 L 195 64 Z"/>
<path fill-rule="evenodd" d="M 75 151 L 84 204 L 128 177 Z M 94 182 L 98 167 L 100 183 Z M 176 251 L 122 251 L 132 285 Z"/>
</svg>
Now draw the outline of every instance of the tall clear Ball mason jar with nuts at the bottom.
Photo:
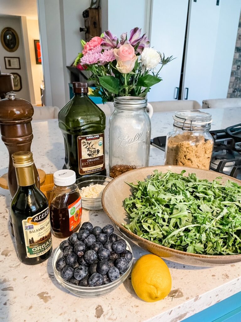
<svg viewBox="0 0 241 322">
<path fill-rule="evenodd" d="M 147 99 L 116 97 L 109 126 L 110 176 L 115 178 L 129 170 L 148 166 L 151 122 Z"/>
</svg>

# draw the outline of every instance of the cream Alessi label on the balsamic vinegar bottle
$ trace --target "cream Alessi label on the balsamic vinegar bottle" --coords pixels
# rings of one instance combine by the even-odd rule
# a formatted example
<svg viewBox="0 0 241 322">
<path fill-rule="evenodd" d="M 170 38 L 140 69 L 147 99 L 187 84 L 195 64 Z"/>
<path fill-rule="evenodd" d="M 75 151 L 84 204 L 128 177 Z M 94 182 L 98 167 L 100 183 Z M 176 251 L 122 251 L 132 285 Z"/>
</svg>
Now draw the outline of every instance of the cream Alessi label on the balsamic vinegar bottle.
<svg viewBox="0 0 241 322">
<path fill-rule="evenodd" d="M 52 246 L 49 207 L 33 217 L 22 220 L 27 257 L 45 254 Z"/>
</svg>

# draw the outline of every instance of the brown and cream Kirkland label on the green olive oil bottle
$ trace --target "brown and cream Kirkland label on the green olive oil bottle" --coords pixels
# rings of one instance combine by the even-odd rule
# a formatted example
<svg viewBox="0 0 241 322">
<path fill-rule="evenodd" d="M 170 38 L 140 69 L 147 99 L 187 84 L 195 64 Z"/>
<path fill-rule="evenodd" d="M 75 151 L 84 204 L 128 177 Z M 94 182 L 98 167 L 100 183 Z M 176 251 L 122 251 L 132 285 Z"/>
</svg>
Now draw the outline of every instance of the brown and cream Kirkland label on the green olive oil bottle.
<svg viewBox="0 0 241 322">
<path fill-rule="evenodd" d="M 79 174 L 85 175 L 105 168 L 104 133 L 77 137 Z"/>
</svg>

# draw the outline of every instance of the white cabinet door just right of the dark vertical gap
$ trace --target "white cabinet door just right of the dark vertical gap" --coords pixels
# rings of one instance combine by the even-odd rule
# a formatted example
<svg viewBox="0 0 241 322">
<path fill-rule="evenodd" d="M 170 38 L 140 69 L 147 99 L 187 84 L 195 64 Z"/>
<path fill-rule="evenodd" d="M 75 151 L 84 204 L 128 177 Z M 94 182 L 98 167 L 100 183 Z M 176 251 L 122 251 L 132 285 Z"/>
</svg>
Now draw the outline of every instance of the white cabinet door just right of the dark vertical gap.
<svg viewBox="0 0 241 322">
<path fill-rule="evenodd" d="M 182 99 L 208 98 L 215 60 L 220 6 L 216 0 L 190 1 Z"/>
</svg>

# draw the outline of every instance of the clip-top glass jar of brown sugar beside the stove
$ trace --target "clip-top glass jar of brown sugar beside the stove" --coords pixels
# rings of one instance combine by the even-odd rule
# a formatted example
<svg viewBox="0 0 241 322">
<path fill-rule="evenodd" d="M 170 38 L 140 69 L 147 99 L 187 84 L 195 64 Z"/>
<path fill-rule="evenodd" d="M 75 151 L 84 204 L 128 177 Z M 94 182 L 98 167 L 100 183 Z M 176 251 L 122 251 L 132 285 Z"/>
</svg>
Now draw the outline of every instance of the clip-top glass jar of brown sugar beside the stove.
<svg viewBox="0 0 241 322">
<path fill-rule="evenodd" d="M 173 131 L 166 137 L 165 165 L 209 170 L 213 137 L 209 133 L 212 116 L 199 110 L 178 111 Z"/>
</svg>

